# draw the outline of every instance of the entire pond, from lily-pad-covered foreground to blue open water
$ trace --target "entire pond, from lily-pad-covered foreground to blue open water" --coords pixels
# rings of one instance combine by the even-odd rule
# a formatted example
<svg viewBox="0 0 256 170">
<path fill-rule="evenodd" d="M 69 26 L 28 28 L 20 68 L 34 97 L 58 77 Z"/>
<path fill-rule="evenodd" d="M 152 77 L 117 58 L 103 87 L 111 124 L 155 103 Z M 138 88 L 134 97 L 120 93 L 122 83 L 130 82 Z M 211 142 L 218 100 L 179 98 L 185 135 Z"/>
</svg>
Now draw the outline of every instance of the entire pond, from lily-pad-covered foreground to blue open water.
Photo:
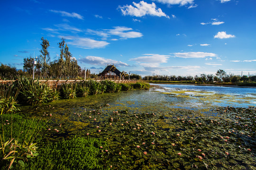
<svg viewBox="0 0 256 170">
<path fill-rule="evenodd" d="M 20 110 L 50 120 L 42 147 L 104 140 L 103 169 L 256 170 L 256 88 L 151 84 Z"/>
</svg>

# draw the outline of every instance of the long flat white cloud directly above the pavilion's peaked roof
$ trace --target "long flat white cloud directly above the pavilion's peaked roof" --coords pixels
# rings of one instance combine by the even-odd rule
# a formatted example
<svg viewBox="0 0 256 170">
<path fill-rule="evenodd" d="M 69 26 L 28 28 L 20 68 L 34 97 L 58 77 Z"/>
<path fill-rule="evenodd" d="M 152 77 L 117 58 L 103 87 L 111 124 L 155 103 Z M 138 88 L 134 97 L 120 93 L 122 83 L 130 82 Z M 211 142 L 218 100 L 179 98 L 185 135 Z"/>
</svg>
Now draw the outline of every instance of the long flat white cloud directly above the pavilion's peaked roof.
<svg viewBox="0 0 256 170">
<path fill-rule="evenodd" d="M 87 56 L 85 58 L 79 58 L 78 61 L 84 62 L 86 64 L 100 65 L 100 66 L 107 66 L 108 64 L 114 64 L 118 67 L 129 66 L 127 63 L 124 63 L 121 61 L 116 61 L 113 59 L 105 59 L 102 57 L 95 57 L 95 56 Z"/>
</svg>

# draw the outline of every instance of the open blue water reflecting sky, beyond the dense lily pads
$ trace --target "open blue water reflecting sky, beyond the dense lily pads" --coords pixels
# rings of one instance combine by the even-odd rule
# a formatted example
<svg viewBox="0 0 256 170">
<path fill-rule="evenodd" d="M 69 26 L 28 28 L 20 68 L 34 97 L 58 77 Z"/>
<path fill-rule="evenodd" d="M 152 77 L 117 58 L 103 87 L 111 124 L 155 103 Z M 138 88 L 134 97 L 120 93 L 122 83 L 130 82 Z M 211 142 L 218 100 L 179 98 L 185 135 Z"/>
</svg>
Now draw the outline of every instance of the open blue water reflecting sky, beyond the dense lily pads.
<svg viewBox="0 0 256 170">
<path fill-rule="evenodd" d="M 200 85 L 151 84 L 149 91 L 138 90 L 119 93 L 115 105 L 129 110 L 157 106 L 159 109 L 210 109 L 219 106 L 255 107 L 256 88 L 235 88 Z M 112 104 L 114 104 L 112 103 Z"/>
</svg>

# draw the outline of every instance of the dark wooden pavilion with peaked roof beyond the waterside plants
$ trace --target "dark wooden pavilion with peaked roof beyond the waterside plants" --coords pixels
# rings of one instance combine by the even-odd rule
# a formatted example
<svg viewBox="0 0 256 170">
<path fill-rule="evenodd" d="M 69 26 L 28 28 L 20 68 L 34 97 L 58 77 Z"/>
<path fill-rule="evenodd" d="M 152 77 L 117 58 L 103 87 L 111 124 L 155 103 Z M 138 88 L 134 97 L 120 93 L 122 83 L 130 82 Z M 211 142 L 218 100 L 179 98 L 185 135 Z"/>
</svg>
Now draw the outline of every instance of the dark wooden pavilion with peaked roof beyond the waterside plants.
<svg viewBox="0 0 256 170">
<path fill-rule="evenodd" d="M 98 76 L 101 79 L 121 79 L 125 74 L 120 72 L 114 65 L 109 65 Z"/>
</svg>

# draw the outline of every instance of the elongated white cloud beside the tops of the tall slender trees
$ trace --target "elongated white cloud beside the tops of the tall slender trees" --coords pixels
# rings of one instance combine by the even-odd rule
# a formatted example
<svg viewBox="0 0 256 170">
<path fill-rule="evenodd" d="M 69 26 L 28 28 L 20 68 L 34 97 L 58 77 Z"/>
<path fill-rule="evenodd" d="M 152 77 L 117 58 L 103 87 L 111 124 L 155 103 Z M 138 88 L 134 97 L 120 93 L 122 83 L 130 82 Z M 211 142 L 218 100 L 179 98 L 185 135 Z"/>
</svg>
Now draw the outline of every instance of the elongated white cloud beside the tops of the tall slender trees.
<svg viewBox="0 0 256 170">
<path fill-rule="evenodd" d="M 67 40 L 67 44 L 71 44 L 75 47 L 83 48 L 83 49 L 104 48 L 108 44 L 110 44 L 109 42 L 106 42 L 106 41 L 97 41 L 90 38 L 75 37 L 75 36 L 59 36 L 59 38 L 62 38 L 62 37 Z"/>
</svg>

